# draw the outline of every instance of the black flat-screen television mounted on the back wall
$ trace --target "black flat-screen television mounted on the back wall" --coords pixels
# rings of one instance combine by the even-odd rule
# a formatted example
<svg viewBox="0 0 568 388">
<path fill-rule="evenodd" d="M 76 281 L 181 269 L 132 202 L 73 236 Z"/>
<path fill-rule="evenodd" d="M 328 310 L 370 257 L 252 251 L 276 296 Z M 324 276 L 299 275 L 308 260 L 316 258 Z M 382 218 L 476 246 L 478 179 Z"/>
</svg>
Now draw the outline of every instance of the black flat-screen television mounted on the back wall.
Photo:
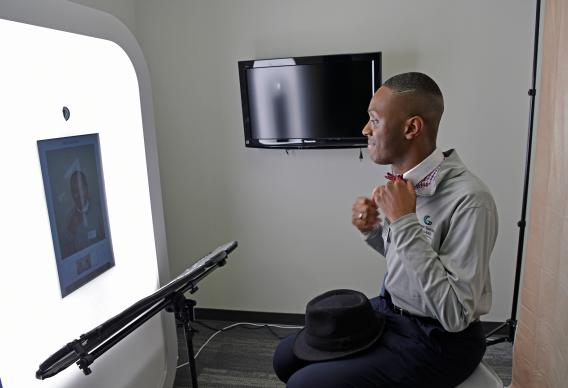
<svg viewBox="0 0 568 388">
<path fill-rule="evenodd" d="M 381 53 L 239 61 L 245 146 L 357 148 Z"/>
</svg>

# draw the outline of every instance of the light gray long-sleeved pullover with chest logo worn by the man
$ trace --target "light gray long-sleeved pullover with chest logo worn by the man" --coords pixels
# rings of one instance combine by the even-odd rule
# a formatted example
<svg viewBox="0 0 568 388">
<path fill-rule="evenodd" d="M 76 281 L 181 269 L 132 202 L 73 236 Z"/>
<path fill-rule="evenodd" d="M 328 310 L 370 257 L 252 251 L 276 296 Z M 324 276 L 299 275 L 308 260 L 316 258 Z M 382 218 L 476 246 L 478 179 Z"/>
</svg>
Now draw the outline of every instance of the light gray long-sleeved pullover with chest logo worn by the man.
<svg viewBox="0 0 568 388">
<path fill-rule="evenodd" d="M 396 306 L 464 330 L 491 307 L 495 202 L 455 150 L 434 151 L 403 177 L 417 187 L 416 213 L 383 220 L 365 240 L 386 258 L 384 286 Z"/>
</svg>

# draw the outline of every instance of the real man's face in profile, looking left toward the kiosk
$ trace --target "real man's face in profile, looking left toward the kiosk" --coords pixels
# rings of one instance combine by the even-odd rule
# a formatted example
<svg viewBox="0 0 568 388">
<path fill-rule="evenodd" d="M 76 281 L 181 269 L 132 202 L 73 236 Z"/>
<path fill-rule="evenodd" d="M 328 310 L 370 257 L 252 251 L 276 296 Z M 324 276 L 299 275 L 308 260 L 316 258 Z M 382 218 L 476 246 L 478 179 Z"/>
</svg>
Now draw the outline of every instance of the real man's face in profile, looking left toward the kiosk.
<svg viewBox="0 0 568 388">
<path fill-rule="evenodd" d="M 381 86 L 369 104 L 369 122 L 363 128 L 369 157 L 377 164 L 396 163 L 406 152 L 402 98 Z"/>
</svg>

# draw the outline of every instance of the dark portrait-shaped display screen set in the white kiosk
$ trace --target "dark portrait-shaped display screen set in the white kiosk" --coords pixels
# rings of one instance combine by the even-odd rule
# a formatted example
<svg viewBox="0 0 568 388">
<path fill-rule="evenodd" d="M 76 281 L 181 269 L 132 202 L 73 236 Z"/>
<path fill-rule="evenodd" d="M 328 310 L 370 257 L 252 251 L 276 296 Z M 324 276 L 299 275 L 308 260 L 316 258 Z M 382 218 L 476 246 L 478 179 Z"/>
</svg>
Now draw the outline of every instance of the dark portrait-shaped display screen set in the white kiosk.
<svg viewBox="0 0 568 388">
<path fill-rule="evenodd" d="M 114 266 L 98 134 L 39 140 L 51 236 L 65 297 Z"/>
</svg>

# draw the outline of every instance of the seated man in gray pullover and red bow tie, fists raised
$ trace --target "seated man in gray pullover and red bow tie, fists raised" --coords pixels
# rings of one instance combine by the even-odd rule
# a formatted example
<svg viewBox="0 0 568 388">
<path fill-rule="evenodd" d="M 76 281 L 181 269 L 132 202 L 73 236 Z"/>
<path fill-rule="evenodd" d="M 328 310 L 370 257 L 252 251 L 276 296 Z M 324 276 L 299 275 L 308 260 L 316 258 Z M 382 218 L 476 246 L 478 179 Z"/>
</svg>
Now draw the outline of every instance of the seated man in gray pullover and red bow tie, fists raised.
<svg viewBox="0 0 568 388">
<path fill-rule="evenodd" d="M 357 198 L 352 223 L 386 258 L 373 300 L 386 327 L 370 349 L 325 362 L 303 361 L 294 338 L 282 341 L 274 368 L 288 387 L 455 387 L 481 361 L 497 210 L 457 152 L 436 147 L 443 111 L 438 85 L 421 73 L 390 78 L 371 99 L 363 134 L 392 173 Z"/>
</svg>

